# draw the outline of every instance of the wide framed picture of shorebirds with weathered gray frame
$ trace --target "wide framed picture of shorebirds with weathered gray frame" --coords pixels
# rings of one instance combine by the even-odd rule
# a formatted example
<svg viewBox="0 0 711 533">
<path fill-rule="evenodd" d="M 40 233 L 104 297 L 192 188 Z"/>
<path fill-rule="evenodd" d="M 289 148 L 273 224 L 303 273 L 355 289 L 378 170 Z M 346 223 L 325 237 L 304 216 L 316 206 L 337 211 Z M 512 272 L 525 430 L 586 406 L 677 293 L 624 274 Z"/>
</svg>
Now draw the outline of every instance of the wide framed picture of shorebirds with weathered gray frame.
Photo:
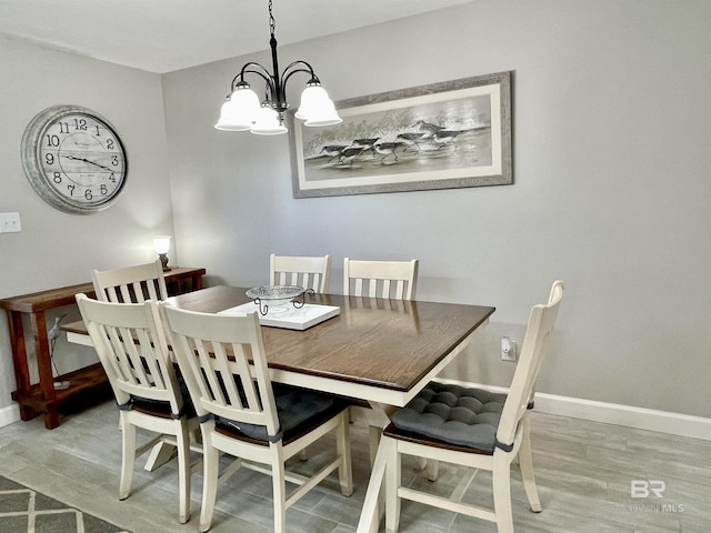
<svg viewBox="0 0 711 533">
<path fill-rule="evenodd" d="M 294 198 L 513 183 L 510 71 L 336 107 L 326 128 L 288 115 Z"/>
</svg>

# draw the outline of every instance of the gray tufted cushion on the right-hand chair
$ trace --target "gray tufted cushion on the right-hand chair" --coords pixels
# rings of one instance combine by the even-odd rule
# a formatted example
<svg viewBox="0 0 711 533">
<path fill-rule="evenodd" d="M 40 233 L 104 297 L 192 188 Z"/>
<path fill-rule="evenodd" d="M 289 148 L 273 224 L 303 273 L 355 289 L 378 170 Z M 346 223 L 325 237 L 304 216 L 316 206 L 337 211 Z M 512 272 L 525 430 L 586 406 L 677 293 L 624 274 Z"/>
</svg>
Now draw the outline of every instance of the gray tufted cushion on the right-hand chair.
<svg viewBox="0 0 711 533">
<path fill-rule="evenodd" d="M 505 394 L 429 383 L 392 416 L 393 425 L 458 446 L 493 452 Z"/>
</svg>

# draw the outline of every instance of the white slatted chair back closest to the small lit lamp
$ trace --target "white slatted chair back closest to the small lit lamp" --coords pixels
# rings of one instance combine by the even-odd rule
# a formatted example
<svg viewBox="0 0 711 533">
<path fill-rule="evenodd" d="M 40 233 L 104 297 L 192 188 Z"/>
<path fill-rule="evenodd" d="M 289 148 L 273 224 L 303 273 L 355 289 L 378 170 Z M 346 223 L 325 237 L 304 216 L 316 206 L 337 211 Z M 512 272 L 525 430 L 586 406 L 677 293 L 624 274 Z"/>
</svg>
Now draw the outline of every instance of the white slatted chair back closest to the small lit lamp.
<svg viewBox="0 0 711 533">
<path fill-rule="evenodd" d="M 141 303 L 166 300 L 168 289 L 160 259 L 113 270 L 92 270 L 91 282 L 97 300 L 116 303 Z"/>
</svg>

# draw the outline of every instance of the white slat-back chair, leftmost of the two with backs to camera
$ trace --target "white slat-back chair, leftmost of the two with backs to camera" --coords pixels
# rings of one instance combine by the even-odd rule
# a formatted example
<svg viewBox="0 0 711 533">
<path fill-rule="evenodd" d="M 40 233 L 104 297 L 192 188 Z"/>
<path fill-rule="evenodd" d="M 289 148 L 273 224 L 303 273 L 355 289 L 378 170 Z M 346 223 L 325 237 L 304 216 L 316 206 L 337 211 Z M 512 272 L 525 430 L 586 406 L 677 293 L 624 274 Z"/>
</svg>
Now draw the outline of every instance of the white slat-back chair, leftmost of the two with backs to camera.
<svg viewBox="0 0 711 533">
<path fill-rule="evenodd" d="M 170 360 L 158 304 L 113 303 L 77 294 L 77 303 L 91 342 L 106 371 L 119 405 L 122 460 L 119 499 L 131 492 L 136 459 L 167 442 L 178 450 L 179 516 L 190 517 L 190 434 L 199 421 L 181 390 L 176 368 Z M 146 444 L 136 444 L 136 428 L 157 436 Z"/>
</svg>

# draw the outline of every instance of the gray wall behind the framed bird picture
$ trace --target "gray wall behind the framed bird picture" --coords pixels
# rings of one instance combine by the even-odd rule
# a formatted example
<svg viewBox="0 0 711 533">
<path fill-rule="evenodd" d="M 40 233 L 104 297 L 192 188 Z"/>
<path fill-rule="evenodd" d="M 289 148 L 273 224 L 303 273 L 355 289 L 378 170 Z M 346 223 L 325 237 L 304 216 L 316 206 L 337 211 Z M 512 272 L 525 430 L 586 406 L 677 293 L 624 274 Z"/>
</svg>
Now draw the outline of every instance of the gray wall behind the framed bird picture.
<svg viewBox="0 0 711 533">
<path fill-rule="evenodd" d="M 499 338 L 560 278 L 540 391 L 711 416 L 709 20 L 704 0 L 482 0 L 280 49 L 337 100 L 513 70 L 512 187 L 294 200 L 286 137 L 212 128 L 267 54 L 164 76 L 181 261 L 251 285 L 272 251 L 331 253 L 340 291 L 343 257 L 419 258 L 419 298 L 498 308 L 450 375 L 500 385 Z"/>
</svg>

